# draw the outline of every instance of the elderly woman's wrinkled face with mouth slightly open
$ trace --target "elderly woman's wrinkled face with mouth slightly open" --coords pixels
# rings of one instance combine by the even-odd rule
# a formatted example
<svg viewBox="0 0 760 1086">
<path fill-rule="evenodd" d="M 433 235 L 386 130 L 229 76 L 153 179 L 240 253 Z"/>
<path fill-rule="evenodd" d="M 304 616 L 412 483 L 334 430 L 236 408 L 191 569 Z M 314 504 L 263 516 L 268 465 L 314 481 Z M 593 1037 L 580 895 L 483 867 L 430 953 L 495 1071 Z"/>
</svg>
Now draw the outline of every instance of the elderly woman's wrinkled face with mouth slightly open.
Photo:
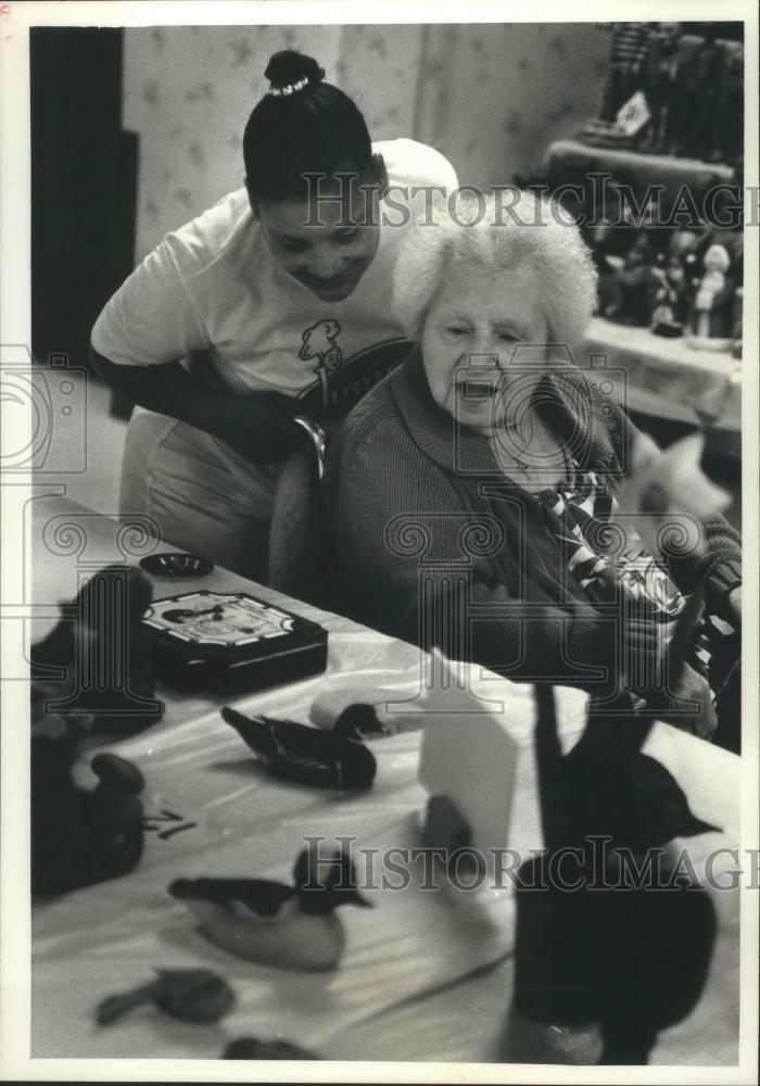
<svg viewBox="0 0 760 1086">
<path fill-rule="evenodd" d="M 531 268 L 446 270 L 422 329 L 425 371 L 433 400 L 481 433 L 518 424 L 541 379 L 547 326 Z M 511 392 L 511 395 L 510 395 Z"/>
</svg>

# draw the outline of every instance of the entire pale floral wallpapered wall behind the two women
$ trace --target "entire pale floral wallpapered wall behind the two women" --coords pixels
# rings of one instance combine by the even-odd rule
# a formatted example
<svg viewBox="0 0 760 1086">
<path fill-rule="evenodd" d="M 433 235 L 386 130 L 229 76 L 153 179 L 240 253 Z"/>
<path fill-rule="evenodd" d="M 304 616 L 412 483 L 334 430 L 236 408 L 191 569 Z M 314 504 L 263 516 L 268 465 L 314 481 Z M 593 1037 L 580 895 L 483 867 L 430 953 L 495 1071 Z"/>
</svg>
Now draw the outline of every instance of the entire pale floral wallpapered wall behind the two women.
<svg viewBox="0 0 760 1086">
<path fill-rule="evenodd" d="M 243 181 L 273 52 L 315 56 L 373 139 L 441 150 L 460 184 L 508 184 L 596 110 L 594 24 L 185 26 L 125 30 L 123 126 L 140 137 L 135 260 Z"/>
</svg>

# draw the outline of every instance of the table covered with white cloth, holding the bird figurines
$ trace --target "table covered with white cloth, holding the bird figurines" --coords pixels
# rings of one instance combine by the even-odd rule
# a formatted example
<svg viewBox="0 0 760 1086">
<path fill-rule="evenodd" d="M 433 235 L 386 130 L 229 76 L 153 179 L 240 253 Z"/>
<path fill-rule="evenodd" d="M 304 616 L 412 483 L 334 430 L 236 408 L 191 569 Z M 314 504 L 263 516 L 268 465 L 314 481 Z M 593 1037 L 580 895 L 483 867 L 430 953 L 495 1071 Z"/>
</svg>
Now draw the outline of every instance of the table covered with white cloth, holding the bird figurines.
<svg viewBox="0 0 760 1086">
<path fill-rule="evenodd" d="M 148 535 L 125 533 L 105 517 L 61 497 L 30 505 L 35 637 L 50 628 L 50 605 L 75 594 L 81 571 L 113 560 L 136 561 L 161 550 Z M 167 591 L 163 591 L 165 585 Z M 308 705 L 341 675 L 397 682 L 409 689 L 420 653 L 349 620 L 287 599 L 216 569 L 185 588 L 248 591 L 296 609 L 329 630 L 324 675 L 241 696 L 242 711 L 305 720 Z M 172 594 L 156 582 L 156 596 Z M 530 690 L 471 669 L 472 689 L 503 703 L 519 745 L 510 844 L 541 847 L 531 749 Z M 351 834 L 360 847 L 415 843 L 426 795 L 416 780 L 419 733 L 380 741 L 373 790 L 353 797 L 277 783 L 253 763 L 220 720 L 219 697 L 175 696 L 163 720 L 112 749 L 136 761 L 147 780 L 149 810 L 181 815 L 193 829 L 161 841 L 147 834 L 141 864 L 110 883 L 43 901 L 33 910 L 33 1056 L 216 1059 L 228 1039 L 278 1034 L 325 1059 L 474 1062 L 593 1062 L 593 1031 L 539 1027 L 510 1011 L 514 969 L 511 896 L 452 900 L 414 892 L 369 892 L 373 911 L 343 910 L 349 944 L 334 974 L 308 976 L 239 961 L 195 930 L 165 887 L 183 874 L 256 874 L 287 879 L 304 833 Z M 583 725 L 584 695 L 558 692 L 567 748 Z M 648 753 L 674 773 L 699 817 L 721 833 L 689 843 L 698 866 L 708 851 L 738 846 L 738 759 L 666 724 Z M 91 780 L 87 752 L 77 774 Z M 717 866 L 730 870 L 731 862 Z M 660 1037 L 653 1062 L 731 1065 L 737 1059 L 738 893 L 713 892 L 720 934 L 710 976 L 688 1019 Z M 154 965 L 203 965 L 236 989 L 236 1009 L 215 1026 L 185 1026 L 151 1009 L 99 1028 L 97 1002 L 144 983 Z"/>
</svg>

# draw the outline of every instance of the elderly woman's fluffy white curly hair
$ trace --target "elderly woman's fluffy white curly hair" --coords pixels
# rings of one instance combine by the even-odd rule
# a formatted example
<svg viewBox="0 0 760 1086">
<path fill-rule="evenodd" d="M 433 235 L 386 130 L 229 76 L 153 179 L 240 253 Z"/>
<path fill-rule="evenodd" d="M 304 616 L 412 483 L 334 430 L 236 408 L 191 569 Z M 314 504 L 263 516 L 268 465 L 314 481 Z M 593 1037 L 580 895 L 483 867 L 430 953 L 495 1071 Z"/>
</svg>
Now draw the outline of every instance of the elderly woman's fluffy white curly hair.
<svg viewBox="0 0 760 1086">
<path fill-rule="evenodd" d="M 511 205 L 494 194 L 463 191 L 453 214 L 440 212 L 429 225 L 409 227 L 393 294 L 413 339 L 419 340 L 446 268 L 457 262 L 473 268 L 533 268 L 549 342 L 572 348 L 583 339 L 596 307 L 597 275 L 578 227 L 557 203 L 532 192 L 505 192 Z"/>
</svg>

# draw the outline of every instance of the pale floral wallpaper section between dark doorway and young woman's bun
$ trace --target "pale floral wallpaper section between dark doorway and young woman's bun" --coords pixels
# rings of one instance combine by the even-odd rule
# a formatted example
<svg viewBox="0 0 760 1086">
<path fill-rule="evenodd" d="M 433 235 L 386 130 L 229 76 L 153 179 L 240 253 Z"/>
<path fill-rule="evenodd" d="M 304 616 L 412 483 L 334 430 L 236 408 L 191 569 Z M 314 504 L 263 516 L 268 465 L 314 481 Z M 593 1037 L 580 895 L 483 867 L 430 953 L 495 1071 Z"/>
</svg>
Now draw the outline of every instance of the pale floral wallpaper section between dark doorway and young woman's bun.
<svg viewBox="0 0 760 1086">
<path fill-rule="evenodd" d="M 124 128 L 139 144 L 135 260 L 243 184 L 242 135 L 271 53 L 312 53 L 329 75 L 339 26 L 180 26 L 125 30 Z"/>
</svg>

